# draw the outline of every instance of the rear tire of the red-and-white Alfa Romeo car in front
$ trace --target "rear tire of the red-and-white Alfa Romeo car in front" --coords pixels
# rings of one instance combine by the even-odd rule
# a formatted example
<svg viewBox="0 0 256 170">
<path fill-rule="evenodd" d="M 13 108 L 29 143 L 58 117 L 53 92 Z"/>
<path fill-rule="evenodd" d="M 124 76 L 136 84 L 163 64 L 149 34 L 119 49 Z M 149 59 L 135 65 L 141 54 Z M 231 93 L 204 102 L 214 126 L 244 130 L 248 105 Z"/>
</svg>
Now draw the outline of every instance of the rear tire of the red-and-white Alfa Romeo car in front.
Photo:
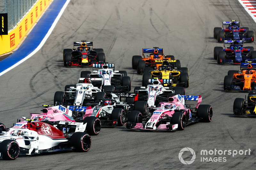
<svg viewBox="0 0 256 170">
<path fill-rule="evenodd" d="M 75 132 L 70 138 L 70 146 L 73 151 L 87 152 L 92 145 L 91 136 L 85 132 Z"/>
</svg>

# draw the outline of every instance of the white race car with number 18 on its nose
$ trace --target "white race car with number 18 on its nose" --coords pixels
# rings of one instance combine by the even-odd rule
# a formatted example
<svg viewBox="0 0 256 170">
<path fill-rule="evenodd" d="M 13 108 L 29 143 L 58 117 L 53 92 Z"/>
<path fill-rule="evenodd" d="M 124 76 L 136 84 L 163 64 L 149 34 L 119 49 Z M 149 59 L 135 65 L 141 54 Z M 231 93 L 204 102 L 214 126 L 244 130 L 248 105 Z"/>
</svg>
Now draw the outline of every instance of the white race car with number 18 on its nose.
<svg viewBox="0 0 256 170">
<path fill-rule="evenodd" d="M 99 68 L 99 70 L 93 70 L 93 73 L 90 71 L 82 71 L 82 78 L 89 78 L 93 86 L 105 91 L 130 91 L 131 90 L 131 78 L 127 76 L 126 71 L 115 71 L 115 64 L 93 64 L 93 68 Z M 107 86 L 108 88 L 104 88 Z M 114 89 L 111 88 L 115 87 Z"/>
</svg>

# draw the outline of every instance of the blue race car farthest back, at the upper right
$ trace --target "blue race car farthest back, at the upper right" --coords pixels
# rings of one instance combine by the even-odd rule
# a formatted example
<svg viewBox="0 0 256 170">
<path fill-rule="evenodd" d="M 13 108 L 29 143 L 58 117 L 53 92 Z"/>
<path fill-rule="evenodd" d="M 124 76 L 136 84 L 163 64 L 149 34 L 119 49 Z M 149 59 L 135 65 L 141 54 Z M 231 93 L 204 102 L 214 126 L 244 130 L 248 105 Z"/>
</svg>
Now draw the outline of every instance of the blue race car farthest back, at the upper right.
<svg viewBox="0 0 256 170">
<path fill-rule="evenodd" d="M 224 25 L 228 25 L 228 27 L 224 28 Z M 213 37 L 218 39 L 218 42 L 223 42 L 224 40 L 254 41 L 253 31 L 249 31 L 248 27 L 240 28 L 240 22 L 238 21 L 222 22 L 222 28 L 215 27 L 213 30 Z"/>
</svg>

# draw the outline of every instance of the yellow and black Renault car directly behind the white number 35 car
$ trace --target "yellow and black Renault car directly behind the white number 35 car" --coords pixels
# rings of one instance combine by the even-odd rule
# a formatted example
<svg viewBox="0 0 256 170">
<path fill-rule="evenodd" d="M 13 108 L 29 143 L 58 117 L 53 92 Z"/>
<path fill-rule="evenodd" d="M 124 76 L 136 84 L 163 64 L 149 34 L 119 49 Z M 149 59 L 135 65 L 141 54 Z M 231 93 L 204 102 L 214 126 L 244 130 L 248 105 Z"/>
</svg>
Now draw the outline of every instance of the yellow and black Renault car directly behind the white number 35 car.
<svg viewBox="0 0 256 170">
<path fill-rule="evenodd" d="M 143 73 L 142 86 L 147 86 L 148 80 L 157 79 L 166 87 L 189 86 L 188 68 L 175 68 L 172 65 L 159 66 L 158 70 L 151 70 L 148 73 Z"/>
</svg>

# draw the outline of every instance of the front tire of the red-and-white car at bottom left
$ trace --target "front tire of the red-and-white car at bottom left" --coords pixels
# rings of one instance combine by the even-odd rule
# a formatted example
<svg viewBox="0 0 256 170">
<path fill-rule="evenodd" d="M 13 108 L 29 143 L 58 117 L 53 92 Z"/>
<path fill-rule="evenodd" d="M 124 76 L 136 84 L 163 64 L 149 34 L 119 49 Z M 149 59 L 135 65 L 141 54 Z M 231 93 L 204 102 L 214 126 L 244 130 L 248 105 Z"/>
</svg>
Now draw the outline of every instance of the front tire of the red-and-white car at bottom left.
<svg viewBox="0 0 256 170">
<path fill-rule="evenodd" d="M 20 154 L 20 146 L 15 140 L 6 139 L 0 144 L 0 152 L 3 153 L 4 160 L 14 160 Z"/>
</svg>

